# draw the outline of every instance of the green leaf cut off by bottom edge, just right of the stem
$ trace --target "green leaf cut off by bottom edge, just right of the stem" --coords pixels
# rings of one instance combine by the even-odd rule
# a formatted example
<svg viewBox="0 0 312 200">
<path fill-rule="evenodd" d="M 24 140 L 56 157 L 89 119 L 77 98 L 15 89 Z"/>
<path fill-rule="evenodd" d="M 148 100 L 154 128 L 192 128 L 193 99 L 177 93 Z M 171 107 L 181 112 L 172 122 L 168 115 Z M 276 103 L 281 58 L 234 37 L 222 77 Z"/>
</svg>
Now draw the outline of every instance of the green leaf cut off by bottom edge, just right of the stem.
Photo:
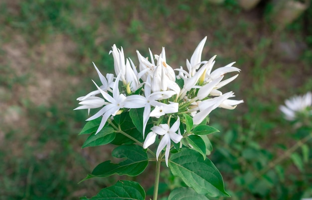
<svg viewBox="0 0 312 200">
<path fill-rule="evenodd" d="M 206 196 L 196 193 L 191 188 L 176 188 L 171 191 L 168 200 L 209 200 Z"/>
</svg>

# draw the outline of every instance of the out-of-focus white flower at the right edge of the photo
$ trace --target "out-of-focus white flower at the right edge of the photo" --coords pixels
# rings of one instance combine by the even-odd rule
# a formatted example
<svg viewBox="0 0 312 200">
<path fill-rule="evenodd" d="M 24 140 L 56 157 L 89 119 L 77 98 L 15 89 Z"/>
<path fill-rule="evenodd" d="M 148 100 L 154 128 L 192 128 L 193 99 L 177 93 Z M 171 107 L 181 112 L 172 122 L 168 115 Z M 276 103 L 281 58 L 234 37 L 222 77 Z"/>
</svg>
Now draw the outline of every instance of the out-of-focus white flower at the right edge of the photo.
<svg viewBox="0 0 312 200">
<path fill-rule="evenodd" d="M 293 121 L 298 113 L 305 112 L 308 109 L 312 115 L 312 93 L 308 92 L 304 96 L 294 96 L 289 100 L 285 100 L 285 105 L 280 105 L 280 110 L 284 113 L 287 120 Z"/>
</svg>

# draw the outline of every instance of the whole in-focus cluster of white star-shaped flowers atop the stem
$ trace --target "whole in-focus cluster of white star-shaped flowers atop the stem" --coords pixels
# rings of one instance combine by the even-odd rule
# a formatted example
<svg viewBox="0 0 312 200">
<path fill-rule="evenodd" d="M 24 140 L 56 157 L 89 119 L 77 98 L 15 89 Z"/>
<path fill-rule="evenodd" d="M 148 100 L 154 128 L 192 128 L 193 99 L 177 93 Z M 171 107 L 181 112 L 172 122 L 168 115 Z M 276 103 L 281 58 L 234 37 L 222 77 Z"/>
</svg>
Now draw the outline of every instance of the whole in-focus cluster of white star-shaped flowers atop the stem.
<svg viewBox="0 0 312 200">
<path fill-rule="evenodd" d="M 81 106 L 76 109 L 89 111 L 90 108 L 101 108 L 87 119 L 102 117 L 96 132 L 98 133 L 109 117 L 129 109 L 144 108 L 143 137 L 145 137 L 148 120 L 152 117 L 155 122 L 155 126 L 151 128 L 151 132 L 145 139 L 144 148 L 148 148 L 155 142 L 156 135 L 161 135 L 156 157 L 158 159 L 159 153 L 166 147 L 167 164 L 170 141 L 178 143 L 184 134 L 181 134 L 179 129 L 182 113 L 188 113 L 192 117 L 193 124 L 199 124 L 215 108 L 234 109 L 237 104 L 243 102 L 243 100 L 229 100 L 234 97 L 233 92 L 223 94 L 219 91 L 238 76 L 237 74 L 222 81 L 224 75 L 239 72 L 240 69 L 233 67 L 233 62 L 212 71 L 216 56 L 209 61 L 201 61 L 205 41 L 206 37 L 196 47 L 190 61 L 186 60 L 186 70 L 182 67 L 173 70 L 166 62 L 164 48 L 154 57 L 150 50 L 150 60 L 137 51 L 139 59 L 139 69 L 137 69 L 130 58 L 125 59 L 123 48 L 118 49 L 114 45 L 110 53 L 114 57 L 116 79 L 113 74 L 103 76 L 94 65 L 102 85 L 98 86 L 94 83 L 97 90 L 78 98 Z M 123 90 L 120 90 L 120 82 Z M 97 97 L 98 94 L 102 97 Z M 171 127 L 170 119 L 175 120 Z M 167 123 L 161 123 L 164 120 Z"/>
</svg>

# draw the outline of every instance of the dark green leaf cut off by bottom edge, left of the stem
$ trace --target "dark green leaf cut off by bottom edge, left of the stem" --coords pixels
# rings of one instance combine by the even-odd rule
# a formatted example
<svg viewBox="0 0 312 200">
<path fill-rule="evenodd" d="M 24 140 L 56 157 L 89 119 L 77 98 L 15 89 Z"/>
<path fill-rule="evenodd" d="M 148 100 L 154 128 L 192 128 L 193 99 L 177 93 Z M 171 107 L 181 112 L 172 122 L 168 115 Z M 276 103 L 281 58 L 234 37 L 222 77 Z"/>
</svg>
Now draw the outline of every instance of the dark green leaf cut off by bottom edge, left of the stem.
<svg viewBox="0 0 312 200">
<path fill-rule="evenodd" d="M 81 200 L 145 200 L 145 191 L 134 181 L 118 181 L 115 185 L 102 189 L 96 196 Z"/>
</svg>

